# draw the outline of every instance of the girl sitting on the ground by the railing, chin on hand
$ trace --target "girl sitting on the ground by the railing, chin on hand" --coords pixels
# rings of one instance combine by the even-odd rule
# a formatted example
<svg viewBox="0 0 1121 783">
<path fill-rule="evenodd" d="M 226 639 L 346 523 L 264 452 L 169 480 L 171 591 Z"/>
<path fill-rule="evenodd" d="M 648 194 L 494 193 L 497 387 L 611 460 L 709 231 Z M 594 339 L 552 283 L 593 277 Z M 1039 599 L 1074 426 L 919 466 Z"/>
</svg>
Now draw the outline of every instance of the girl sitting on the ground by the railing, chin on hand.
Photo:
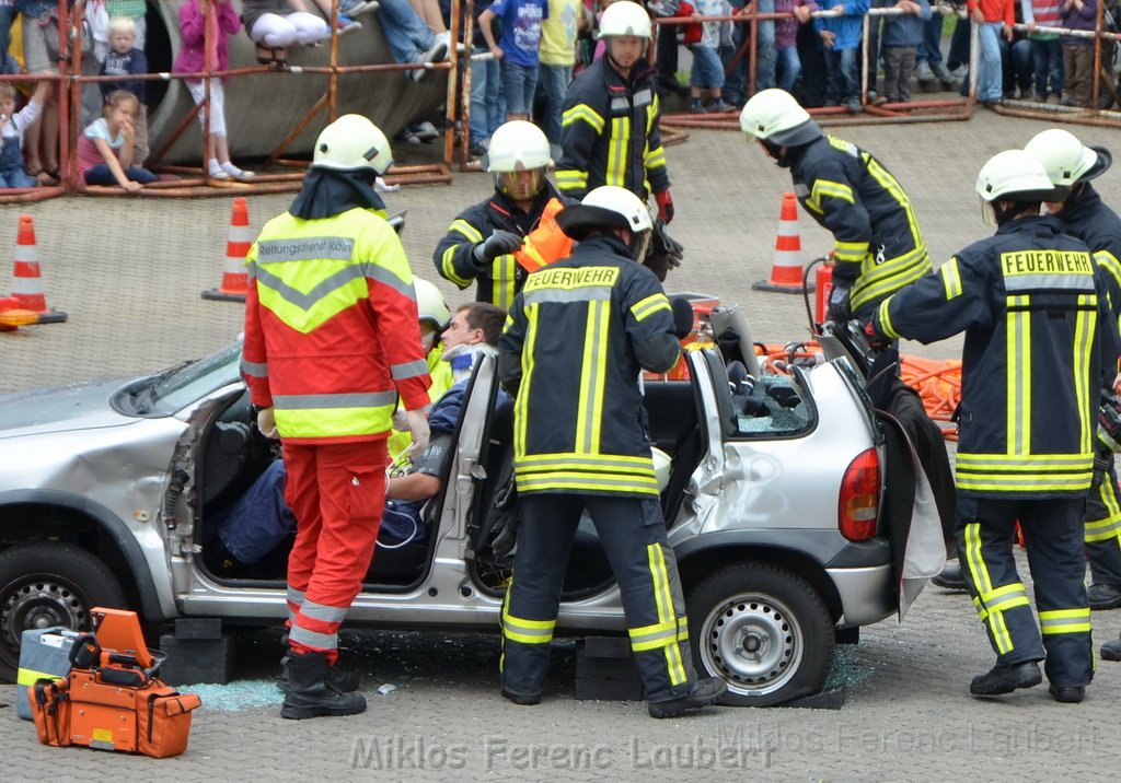
<svg viewBox="0 0 1121 783">
<path fill-rule="evenodd" d="M 120 185 L 136 193 L 159 179 L 132 165 L 133 123 L 139 113 L 140 101 L 128 90 L 109 95 L 104 116 L 91 122 L 78 137 L 78 185 Z"/>
</svg>

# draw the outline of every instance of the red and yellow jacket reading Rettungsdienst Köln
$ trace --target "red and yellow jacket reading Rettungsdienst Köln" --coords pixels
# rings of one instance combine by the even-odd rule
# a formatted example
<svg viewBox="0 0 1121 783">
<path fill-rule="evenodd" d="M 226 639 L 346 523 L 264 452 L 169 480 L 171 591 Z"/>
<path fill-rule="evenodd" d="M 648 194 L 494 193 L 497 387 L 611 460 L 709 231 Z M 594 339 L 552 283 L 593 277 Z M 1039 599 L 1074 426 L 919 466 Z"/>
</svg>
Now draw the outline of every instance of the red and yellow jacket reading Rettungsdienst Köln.
<svg viewBox="0 0 1121 783">
<path fill-rule="evenodd" d="M 269 221 L 245 257 L 242 374 L 285 439 L 385 438 L 398 394 L 428 404 L 416 295 L 392 227 L 367 209 Z"/>
</svg>

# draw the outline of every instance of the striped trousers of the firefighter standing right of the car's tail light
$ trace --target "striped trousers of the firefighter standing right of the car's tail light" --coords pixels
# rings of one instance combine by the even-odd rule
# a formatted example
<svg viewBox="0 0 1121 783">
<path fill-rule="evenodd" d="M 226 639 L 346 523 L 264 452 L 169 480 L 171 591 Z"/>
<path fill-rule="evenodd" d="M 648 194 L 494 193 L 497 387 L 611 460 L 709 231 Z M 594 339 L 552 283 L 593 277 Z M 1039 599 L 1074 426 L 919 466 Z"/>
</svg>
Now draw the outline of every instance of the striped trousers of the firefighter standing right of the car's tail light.
<svg viewBox="0 0 1121 783">
<path fill-rule="evenodd" d="M 1094 674 L 1086 559 L 1085 501 L 957 498 L 957 553 L 973 606 L 999 664 L 1046 659 L 1056 687 L 1085 686 Z M 1036 626 L 1012 553 L 1019 521 L 1035 581 Z"/>
</svg>

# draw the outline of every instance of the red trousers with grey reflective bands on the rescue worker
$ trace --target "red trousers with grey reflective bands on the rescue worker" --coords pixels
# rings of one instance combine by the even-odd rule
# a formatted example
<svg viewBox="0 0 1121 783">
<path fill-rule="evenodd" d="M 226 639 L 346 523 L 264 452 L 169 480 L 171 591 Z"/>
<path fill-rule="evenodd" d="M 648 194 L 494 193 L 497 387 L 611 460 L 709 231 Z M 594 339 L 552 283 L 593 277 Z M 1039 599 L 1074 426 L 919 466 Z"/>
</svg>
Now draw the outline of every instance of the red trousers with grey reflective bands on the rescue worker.
<svg viewBox="0 0 1121 783">
<path fill-rule="evenodd" d="M 288 645 L 339 656 L 339 626 L 370 569 L 386 496 L 386 441 L 284 444 L 285 501 L 296 515 L 288 556 Z"/>
</svg>

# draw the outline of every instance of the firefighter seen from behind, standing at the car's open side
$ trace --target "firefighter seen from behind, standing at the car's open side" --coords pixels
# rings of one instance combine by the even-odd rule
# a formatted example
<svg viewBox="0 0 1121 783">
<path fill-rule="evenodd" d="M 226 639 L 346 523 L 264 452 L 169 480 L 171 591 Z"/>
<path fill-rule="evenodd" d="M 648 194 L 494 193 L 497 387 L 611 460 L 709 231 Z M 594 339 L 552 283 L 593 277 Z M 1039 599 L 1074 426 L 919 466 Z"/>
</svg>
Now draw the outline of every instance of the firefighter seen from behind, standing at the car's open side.
<svg viewBox="0 0 1121 783">
<path fill-rule="evenodd" d="M 646 257 L 650 213 L 604 186 L 565 208 L 571 258 L 529 276 L 499 341 L 515 395 L 518 550 L 502 607 L 502 695 L 540 701 L 573 534 L 586 509 L 619 582 L 652 717 L 715 702 L 697 680 L 677 561 L 666 542 L 639 372 L 678 358 L 669 301 Z"/>
</svg>

